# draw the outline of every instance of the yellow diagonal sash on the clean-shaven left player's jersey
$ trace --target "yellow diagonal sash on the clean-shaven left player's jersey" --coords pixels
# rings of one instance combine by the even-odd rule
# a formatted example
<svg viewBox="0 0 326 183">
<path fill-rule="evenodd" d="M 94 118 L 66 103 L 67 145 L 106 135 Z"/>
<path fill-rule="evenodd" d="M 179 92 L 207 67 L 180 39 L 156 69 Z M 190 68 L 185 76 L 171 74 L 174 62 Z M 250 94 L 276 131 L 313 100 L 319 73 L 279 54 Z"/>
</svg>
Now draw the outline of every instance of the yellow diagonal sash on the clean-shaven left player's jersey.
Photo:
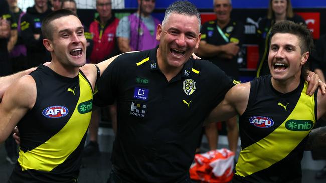
<svg viewBox="0 0 326 183">
<path fill-rule="evenodd" d="M 81 114 L 78 112 L 79 103 L 93 99 L 92 87 L 79 73 L 80 97 L 69 121 L 48 141 L 31 151 L 19 151 L 18 162 L 22 171 L 34 169 L 50 172 L 62 164 L 80 145 L 92 115 L 92 112 Z"/>
</svg>

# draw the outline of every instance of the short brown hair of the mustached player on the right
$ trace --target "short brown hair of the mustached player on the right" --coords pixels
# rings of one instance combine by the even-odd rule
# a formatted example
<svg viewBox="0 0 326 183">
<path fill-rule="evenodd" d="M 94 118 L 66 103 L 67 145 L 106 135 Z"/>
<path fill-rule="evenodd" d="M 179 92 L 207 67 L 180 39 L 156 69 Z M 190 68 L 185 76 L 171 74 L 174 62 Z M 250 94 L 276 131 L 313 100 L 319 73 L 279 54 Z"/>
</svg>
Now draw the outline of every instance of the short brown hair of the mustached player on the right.
<svg viewBox="0 0 326 183">
<path fill-rule="evenodd" d="M 311 53 L 313 48 L 313 39 L 310 30 L 306 25 L 294 23 L 292 21 L 280 21 L 274 24 L 271 30 L 271 38 L 276 33 L 290 33 L 296 35 L 300 41 L 301 54 Z M 301 77 L 305 78 L 309 72 L 309 64 L 304 64 L 301 69 Z"/>
</svg>

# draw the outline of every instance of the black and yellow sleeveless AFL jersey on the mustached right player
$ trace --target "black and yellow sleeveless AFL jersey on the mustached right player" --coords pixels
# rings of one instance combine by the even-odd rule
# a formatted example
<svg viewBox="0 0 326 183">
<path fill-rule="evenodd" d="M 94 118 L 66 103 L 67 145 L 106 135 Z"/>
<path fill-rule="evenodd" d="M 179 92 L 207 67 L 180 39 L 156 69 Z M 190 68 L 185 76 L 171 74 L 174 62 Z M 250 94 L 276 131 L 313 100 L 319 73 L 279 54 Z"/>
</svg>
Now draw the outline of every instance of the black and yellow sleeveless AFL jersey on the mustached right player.
<svg viewBox="0 0 326 183">
<path fill-rule="evenodd" d="M 317 118 L 317 93 L 307 82 L 279 93 L 271 76 L 251 81 L 247 109 L 240 117 L 241 152 L 234 182 L 301 182 L 301 159 Z"/>
</svg>

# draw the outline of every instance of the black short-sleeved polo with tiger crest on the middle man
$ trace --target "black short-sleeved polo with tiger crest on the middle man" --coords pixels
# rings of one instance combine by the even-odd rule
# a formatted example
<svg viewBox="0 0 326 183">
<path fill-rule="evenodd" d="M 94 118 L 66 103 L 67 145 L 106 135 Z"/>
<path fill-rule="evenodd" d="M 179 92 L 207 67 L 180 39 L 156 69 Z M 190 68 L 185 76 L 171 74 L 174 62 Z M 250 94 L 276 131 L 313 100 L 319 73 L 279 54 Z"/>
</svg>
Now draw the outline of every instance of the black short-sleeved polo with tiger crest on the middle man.
<svg viewBox="0 0 326 183">
<path fill-rule="evenodd" d="M 127 182 L 179 182 L 188 174 L 202 122 L 234 85 L 208 61 L 189 59 L 169 82 L 157 48 L 125 53 L 101 76 L 94 103 L 117 100 L 113 171 Z"/>
</svg>

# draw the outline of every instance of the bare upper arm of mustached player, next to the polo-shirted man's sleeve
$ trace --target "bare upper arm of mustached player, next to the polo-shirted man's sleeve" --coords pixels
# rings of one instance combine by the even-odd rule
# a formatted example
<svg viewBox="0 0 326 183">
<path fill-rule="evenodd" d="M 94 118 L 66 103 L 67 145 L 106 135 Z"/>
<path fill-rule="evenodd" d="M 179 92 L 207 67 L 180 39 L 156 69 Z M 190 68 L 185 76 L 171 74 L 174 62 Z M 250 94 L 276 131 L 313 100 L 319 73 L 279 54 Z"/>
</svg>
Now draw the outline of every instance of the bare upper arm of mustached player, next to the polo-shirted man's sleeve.
<svg viewBox="0 0 326 183">
<path fill-rule="evenodd" d="M 237 114 L 243 114 L 247 108 L 250 82 L 237 84 L 225 95 L 224 99 L 211 111 L 205 124 L 227 120 Z"/>
</svg>

